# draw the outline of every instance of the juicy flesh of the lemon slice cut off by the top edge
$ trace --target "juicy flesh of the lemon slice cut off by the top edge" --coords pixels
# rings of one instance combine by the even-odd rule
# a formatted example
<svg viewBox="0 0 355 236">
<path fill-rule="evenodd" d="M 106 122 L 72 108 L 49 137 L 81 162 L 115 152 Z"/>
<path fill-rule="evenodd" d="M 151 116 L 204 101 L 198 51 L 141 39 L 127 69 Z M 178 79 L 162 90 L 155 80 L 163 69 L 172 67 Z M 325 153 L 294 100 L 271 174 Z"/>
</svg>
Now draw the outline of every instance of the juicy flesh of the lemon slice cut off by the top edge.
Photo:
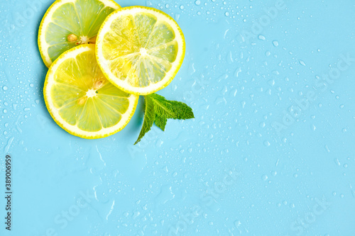
<svg viewBox="0 0 355 236">
<path fill-rule="evenodd" d="M 62 52 L 81 44 L 95 43 L 104 19 L 116 9 L 102 1 L 76 0 L 62 4 L 55 10 L 45 29 L 45 43 L 52 62 Z"/>
</svg>

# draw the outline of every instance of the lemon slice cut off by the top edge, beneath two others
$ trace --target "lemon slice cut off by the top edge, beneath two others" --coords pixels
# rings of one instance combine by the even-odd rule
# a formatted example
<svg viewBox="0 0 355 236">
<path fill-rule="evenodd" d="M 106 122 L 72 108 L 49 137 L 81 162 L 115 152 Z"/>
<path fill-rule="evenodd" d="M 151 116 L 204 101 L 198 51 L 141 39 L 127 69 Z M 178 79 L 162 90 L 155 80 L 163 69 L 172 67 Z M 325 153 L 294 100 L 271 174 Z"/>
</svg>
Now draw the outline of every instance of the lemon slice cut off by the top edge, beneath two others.
<svg viewBox="0 0 355 236">
<path fill-rule="evenodd" d="M 95 43 L 97 31 L 112 11 L 112 0 L 57 0 L 45 12 L 38 30 L 38 47 L 47 67 L 62 52 L 81 44 Z"/>
</svg>

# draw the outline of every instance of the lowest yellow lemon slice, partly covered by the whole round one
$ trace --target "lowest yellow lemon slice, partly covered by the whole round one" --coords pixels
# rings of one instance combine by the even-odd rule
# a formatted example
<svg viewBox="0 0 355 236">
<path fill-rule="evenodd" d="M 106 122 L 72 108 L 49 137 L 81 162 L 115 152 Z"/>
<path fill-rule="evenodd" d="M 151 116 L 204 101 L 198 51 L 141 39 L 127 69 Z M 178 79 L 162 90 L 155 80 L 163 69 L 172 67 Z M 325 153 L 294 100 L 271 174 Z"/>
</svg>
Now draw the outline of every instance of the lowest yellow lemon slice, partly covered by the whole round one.
<svg viewBox="0 0 355 236">
<path fill-rule="evenodd" d="M 94 45 L 80 45 L 60 55 L 48 70 L 43 93 L 55 122 L 68 133 L 88 139 L 123 129 L 139 97 L 117 89 L 104 77 Z"/>
</svg>

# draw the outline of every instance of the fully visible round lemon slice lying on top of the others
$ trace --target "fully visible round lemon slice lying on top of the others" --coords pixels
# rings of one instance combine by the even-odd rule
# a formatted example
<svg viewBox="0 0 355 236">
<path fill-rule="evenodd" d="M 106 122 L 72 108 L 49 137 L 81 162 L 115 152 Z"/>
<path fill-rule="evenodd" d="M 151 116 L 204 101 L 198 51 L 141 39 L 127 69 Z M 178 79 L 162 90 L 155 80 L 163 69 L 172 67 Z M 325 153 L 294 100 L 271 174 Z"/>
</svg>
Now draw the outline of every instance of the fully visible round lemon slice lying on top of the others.
<svg viewBox="0 0 355 236">
<path fill-rule="evenodd" d="M 131 6 L 107 16 L 97 34 L 96 53 L 112 84 L 130 94 L 152 94 L 178 73 L 185 38 L 163 11 Z"/>
</svg>

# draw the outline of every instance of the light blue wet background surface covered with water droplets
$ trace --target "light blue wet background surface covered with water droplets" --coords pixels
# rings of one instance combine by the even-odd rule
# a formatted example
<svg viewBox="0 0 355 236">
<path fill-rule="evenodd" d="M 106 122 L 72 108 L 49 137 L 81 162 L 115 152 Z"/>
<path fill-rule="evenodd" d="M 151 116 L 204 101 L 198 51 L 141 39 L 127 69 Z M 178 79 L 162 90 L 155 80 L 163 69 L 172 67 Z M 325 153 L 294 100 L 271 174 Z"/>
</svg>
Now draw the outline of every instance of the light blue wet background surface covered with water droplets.
<svg viewBox="0 0 355 236">
<path fill-rule="evenodd" d="M 285 0 L 273 18 L 271 0 L 117 2 L 179 23 L 185 60 L 158 94 L 195 119 L 133 146 L 140 102 L 116 135 L 66 133 L 45 108 L 37 46 L 52 1 L 1 0 L 0 235 L 355 235 L 355 61 L 322 80 L 355 57 L 354 1 Z M 285 120 L 309 91 L 315 101 Z"/>
</svg>

